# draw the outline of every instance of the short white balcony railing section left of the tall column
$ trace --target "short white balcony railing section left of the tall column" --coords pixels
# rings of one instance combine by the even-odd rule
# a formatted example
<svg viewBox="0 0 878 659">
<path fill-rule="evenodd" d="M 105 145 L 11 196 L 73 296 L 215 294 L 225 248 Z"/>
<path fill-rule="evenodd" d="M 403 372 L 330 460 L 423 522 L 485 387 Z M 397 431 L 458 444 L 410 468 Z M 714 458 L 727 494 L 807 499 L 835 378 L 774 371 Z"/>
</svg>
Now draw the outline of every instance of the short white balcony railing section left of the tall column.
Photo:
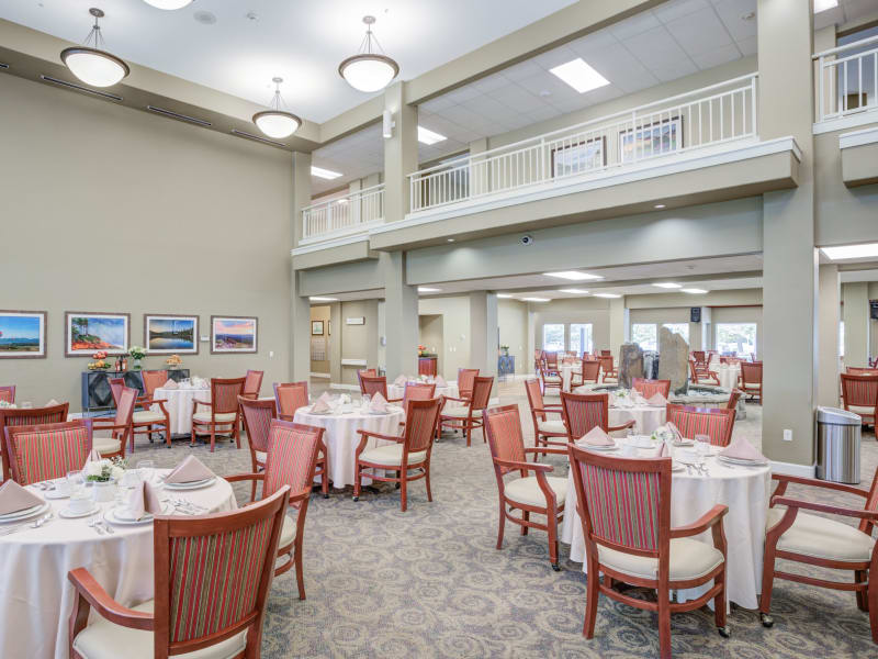
<svg viewBox="0 0 878 659">
<path fill-rule="evenodd" d="M 365 230 L 384 219 L 384 183 L 302 209 L 302 237 L 328 237 Z"/>
</svg>

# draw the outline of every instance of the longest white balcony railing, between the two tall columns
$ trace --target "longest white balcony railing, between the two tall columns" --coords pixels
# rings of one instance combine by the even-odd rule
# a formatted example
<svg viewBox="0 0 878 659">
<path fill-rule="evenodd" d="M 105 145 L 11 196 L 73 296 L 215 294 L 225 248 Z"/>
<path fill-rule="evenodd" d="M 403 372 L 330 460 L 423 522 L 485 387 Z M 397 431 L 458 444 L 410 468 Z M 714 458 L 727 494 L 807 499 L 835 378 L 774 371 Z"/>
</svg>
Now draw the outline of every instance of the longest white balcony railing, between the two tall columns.
<svg viewBox="0 0 878 659">
<path fill-rule="evenodd" d="M 751 74 L 408 175 L 413 213 L 754 137 Z"/>
</svg>

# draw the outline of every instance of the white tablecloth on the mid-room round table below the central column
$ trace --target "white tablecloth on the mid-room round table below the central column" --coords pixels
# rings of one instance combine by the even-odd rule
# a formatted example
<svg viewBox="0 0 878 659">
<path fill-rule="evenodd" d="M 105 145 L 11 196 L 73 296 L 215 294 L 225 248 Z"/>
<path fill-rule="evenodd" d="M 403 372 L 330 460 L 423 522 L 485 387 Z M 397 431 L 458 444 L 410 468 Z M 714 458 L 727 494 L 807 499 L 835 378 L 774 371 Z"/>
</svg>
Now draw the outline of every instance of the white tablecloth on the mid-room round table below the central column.
<svg viewBox="0 0 878 659">
<path fill-rule="evenodd" d="M 358 429 L 381 433 L 382 435 L 398 435 L 399 423 L 405 420 L 401 407 L 392 407 L 390 414 L 369 414 L 360 412 L 359 407 L 347 414 L 311 414 L 309 407 L 296 410 L 295 423 L 320 426 L 326 428 L 323 442 L 326 445 L 326 459 L 328 460 L 329 479 L 334 488 L 345 488 L 353 484 L 354 467 L 357 463 L 357 446 L 360 444 Z M 370 438 L 367 448 L 391 444 L 383 439 Z M 316 479 L 319 481 L 319 478 Z M 363 479 L 363 483 L 372 482 Z"/>
</svg>

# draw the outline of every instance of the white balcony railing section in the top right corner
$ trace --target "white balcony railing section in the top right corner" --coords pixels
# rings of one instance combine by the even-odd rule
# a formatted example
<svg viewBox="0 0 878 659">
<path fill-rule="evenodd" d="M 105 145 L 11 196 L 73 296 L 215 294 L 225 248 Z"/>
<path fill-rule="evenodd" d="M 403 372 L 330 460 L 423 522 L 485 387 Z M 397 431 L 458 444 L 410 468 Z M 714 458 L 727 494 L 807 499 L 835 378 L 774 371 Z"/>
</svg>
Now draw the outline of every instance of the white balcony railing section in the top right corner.
<svg viewBox="0 0 878 659">
<path fill-rule="evenodd" d="M 818 63 L 817 121 L 878 109 L 878 36 L 813 56 Z"/>
</svg>

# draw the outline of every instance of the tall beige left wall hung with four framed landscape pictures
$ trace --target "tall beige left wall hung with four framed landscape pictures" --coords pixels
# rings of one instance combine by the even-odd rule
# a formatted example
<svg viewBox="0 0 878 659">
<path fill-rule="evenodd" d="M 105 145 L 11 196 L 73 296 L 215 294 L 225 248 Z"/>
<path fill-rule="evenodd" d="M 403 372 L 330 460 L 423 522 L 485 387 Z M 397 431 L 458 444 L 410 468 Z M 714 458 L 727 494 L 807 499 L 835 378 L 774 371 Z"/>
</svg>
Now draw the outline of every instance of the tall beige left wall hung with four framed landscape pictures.
<svg viewBox="0 0 878 659">
<path fill-rule="evenodd" d="M 288 377 L 289 153 L 12 76 L 0 116 L 0 308 L 48 311 L 48 357 L 0 360 L 0 382 L 79 409 L 89 359 L 64 356 L 65 311 L 131 313 L 135 345 L 144 313 L 198 314 L 202 336 L 211 314 L 256 315 L 256 355 L 200 343 L 184 366 Z"/>
</svg>

